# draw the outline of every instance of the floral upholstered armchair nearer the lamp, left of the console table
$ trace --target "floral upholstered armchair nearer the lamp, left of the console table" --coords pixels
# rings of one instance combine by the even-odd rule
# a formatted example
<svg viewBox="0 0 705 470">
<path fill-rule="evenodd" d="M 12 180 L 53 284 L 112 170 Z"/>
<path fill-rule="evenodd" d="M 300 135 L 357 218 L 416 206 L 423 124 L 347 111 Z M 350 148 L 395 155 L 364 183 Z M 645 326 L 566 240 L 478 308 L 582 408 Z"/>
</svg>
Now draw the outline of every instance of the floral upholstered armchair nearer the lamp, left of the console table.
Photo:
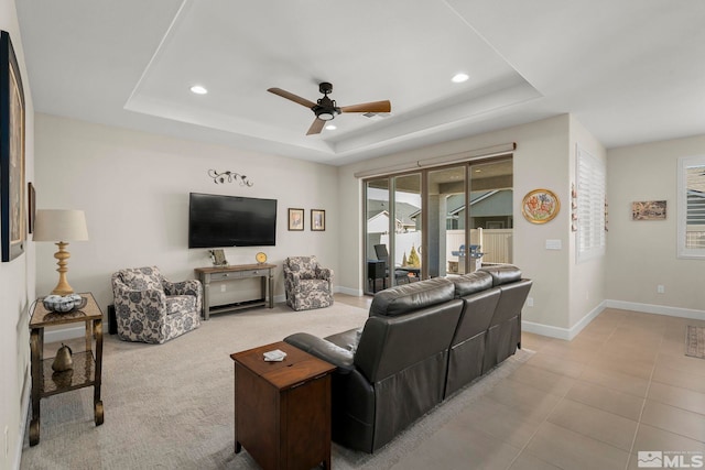
<svg viewBox="0 0 705 470">
<path fill-rule="evenodd" d="M 156 266 L 112 274 L 118 337 L 163 343 L 200 326 L 200 281 L 169 282 Z"/>
</svg>

